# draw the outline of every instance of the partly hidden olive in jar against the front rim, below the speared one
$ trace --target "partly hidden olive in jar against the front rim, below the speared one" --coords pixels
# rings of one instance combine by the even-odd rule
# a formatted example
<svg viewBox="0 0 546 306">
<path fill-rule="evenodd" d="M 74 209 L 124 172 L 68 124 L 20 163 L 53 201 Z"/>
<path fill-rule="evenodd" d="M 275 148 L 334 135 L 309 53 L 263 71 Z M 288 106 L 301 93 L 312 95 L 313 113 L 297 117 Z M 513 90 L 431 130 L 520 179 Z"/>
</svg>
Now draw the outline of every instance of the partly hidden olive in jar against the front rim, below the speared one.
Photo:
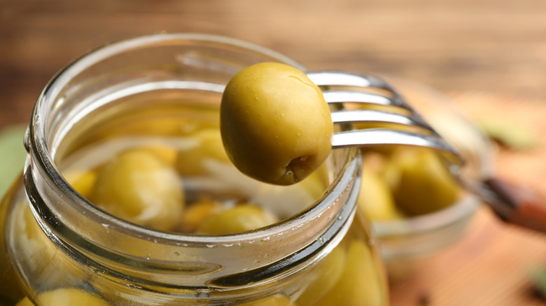
<svg viewBox="0 0 546 306">
<path fill-rule="evenodd" d="M 251 231 L 279 221 L 272 213 L 257 205 L 237 205 L 205 218 L 197 233 L 222 235 Z"/>
</svg>

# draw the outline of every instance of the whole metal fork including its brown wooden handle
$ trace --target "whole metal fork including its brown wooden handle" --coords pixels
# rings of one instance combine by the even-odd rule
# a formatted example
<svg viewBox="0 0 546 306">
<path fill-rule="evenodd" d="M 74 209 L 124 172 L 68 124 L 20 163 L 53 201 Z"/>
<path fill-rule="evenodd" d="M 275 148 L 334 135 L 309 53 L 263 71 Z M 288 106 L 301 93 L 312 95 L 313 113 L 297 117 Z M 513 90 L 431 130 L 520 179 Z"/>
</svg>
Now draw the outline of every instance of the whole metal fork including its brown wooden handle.
<svg viewBox="0 0 546 306">
<path fill-rule="evenodd" d="M 381 109 L 332 110 L 335 124 L 389 124 L 388 129 L 370 128 L 334 133 L 332 148 L 409 145 L 429 147 L 442 153 L 451 174 L 461 186 L 488 204 L 503 221 L 546 233 L 546 196 L 526 187 L 504 182 L 497 177 L 482 177 L 469 182 L 461 173 L 463 158 L 432 126 L 421 118 L 387 82 L 372 75 L 338 71 L 307 73 L 321 87 L 331 105 L 358 103 L 381 105 Z M 391 127 L 392 126 L 392 127 Z M 394 126 L 400 127 L 400 129 Z M 411 128 L 411 131 L 407 131 Z"/>
</svg>

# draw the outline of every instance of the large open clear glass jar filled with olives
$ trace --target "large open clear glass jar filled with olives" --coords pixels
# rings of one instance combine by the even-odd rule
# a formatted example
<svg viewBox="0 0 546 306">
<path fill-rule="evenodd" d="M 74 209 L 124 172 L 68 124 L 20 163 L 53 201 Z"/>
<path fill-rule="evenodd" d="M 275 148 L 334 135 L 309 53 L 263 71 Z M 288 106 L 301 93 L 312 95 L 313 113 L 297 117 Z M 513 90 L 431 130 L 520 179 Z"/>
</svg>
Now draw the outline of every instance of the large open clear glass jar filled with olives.
<svg viewBox="0 0 546 306">
<path fill-rule="evenodd" d="M 251 194 L 281 220 L 241 233 L 135 224 L 69 184 L 69 169 L 122 149 L 183 147 L 196 131 L 218 129 L 225 84 L 260 61 L 304 70 L 231 38 L 157 34 L 106 45 L 57 74 L 25 135 L 24 175 L 0 206 L 0 304 L 387 305 L 377 249 L 356 210 L 356 149 L 330 154 L 311 198 L 307 187 L 257 183 L 228 163 L 184 178 L 186 201 Z"/>
</svg>

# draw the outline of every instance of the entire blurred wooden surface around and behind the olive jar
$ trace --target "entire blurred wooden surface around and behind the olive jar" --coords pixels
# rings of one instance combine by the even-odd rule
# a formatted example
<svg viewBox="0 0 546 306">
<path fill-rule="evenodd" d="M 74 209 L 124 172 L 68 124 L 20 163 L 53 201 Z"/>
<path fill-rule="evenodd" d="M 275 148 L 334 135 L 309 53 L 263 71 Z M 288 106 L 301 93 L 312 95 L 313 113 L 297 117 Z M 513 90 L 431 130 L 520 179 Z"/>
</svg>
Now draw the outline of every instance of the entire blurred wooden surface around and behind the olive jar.
<svg viewBox="0 0 546 306">
<path fill-rule="evenodd" d="M 499 175 L 546 191 L 546 1 L 119 0 L 0 3 L 0 129 L 27 122 L 51 76 L 106 42 L 159 31 L 241 38 L 311 70 L 388 73 L 440 89 L 476 118 L 540 138 L 499 150 Z M 482 207 L 463 240 L 391 285 L 391 305 L 544 305 L 528 271 L 546 236 Z"/>
</svg>

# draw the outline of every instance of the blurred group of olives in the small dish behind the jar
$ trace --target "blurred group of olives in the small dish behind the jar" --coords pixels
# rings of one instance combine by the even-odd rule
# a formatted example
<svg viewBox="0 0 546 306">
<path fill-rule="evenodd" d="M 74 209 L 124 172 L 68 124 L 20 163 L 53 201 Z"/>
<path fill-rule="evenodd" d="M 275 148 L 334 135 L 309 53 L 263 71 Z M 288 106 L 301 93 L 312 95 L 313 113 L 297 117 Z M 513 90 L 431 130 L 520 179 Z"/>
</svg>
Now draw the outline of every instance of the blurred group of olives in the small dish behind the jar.
<svg viewBox="0 0 546 306">
<path fill-rule="evenodd" d="M 461 187 L 427 148 L 363 150 L 358 205 L 374 221 L 430 214 L 453 205 Z"/>
</svg>

